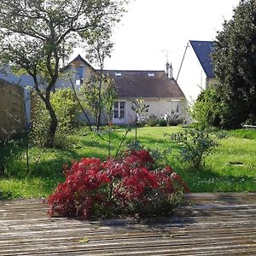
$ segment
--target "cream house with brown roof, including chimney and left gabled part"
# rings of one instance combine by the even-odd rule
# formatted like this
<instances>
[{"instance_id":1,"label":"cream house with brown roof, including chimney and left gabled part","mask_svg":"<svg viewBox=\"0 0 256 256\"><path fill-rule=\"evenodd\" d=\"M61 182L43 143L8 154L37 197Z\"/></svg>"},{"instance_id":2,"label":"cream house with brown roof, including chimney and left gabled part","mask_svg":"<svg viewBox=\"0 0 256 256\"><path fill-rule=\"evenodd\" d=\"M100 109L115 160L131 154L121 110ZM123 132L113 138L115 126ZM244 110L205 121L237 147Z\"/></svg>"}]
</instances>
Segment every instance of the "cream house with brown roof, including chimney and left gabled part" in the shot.
<instances>
[{"instance_id":1,"label":"cream house with brown roof, including chimney and left gabled part","mask_svg":"<svg viewBox=\"0 0 256 256\"><path fill-rule=\"evenodd\" d=\"M88 79L91 72L96 72L87 61L78 55L71 61L64 71L73 73L73 84L79 90L82 83ZM166 65L165 71L132 71L132 70L104 70L117 86L119 99L113 106L114 124L132 124L135 113L131 110L131 103L143 98L149 105L148 112L158 118L164 117L172 111L183 115L185 96L172 77L172 66ZM69 79L59 79L55 88L70 86ZM90 114L89 114L90 115Z\"/></svg>"}]
</instances>

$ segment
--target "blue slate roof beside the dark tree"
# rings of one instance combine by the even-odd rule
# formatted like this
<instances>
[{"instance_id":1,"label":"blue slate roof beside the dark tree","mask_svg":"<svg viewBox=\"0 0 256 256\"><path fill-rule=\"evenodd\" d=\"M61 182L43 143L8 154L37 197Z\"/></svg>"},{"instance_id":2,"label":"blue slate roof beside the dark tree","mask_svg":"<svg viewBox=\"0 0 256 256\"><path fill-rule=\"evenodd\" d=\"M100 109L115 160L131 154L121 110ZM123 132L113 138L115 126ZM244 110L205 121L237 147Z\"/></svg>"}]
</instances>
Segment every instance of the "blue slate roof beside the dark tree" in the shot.
<instances>
[{"instance_id":1,"label":"blue slate roof beside the dark tree","mask_svg":"<svg viewBox=\"0 0 256 256\"><path fill-rule=\"evenodd\" d=\"M207 78L214 78L211 53L214 48L213 41L192 41L190 40L195 55L201 63L201 67L207 74Z\"/></svg>"}]
</instances>

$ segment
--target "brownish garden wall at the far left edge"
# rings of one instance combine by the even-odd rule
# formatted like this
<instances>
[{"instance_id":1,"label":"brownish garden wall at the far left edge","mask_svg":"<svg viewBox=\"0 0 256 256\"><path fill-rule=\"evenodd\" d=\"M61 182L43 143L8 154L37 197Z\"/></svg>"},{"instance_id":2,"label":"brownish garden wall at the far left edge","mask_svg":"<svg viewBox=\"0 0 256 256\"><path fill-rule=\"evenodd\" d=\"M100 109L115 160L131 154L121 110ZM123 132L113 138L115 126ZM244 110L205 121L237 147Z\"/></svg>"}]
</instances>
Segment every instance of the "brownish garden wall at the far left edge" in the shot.
<instances>
[{"instance_id":1,"label":"brownish garden wall at the far left edge","mask_svg":"<svg viewBox=\"0 0 256 256\"><path fill-rule=\"evenodd\" d=\"M24 89L0 79L0 141L25 130Z\"/></svg>"}]
</instances>

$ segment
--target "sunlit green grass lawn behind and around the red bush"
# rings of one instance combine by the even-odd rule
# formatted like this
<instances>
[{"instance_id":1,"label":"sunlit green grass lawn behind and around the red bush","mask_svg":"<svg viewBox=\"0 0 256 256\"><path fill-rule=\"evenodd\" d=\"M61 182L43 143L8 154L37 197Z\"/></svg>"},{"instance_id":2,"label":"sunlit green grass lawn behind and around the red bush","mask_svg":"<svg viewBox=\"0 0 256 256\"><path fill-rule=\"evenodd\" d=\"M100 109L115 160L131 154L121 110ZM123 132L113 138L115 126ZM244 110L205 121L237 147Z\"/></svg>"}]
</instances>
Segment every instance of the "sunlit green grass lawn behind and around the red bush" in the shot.
<instances>
[{"instance_id":1,"label":"sunlit green grass lawn behind and around the red bush","mask_svg":"<svg viewBox=\"0 0 256 256\"><path fill-rule=\"evenodd\" d=\"M256 192L256 131L228 131L228 137L220 141L214 154L207 157L202 170L189 170L177 159L179 146L164 135L179 131L180 127L143 127L137 129L138 140L145 148L163 151L172 149L168 164L179 172L192 192L253 191ZM125 136L125 128L114 128L111 134L111 155L116 154ZM126 143L134 140L132 129ZM30 168L26 168L25 143L11 141L0 145L0 199L17 197L45 197L52 193L57 183L64 180L63 164L83 157L108 158L108 133L96 133L80 129L72 136L71 149L30 148Z\"/></svg>"}]
</instances>

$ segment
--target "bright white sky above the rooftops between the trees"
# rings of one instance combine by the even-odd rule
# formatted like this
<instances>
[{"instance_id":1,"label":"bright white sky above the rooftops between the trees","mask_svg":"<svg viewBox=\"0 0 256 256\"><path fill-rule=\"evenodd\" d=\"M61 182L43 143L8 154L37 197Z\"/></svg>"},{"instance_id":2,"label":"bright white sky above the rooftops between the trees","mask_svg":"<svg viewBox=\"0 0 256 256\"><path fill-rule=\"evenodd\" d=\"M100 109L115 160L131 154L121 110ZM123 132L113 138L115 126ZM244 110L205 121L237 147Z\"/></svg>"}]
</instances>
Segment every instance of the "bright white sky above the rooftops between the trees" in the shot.
<instances>
[{"instance_id":1,"label":"bright white sky above the rooftops between the trees","mask_svg":"<svg viewBox=\"0 0 256 256\"><path fill-rule=\"evenodd\" d=\"M165 70L174 76L189 40L212 41L239 0L131 0L113 31L106 69ZM80 53L82 56L83 53Z\"/></svg>"}]
</instances>

